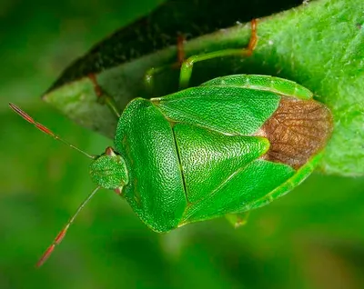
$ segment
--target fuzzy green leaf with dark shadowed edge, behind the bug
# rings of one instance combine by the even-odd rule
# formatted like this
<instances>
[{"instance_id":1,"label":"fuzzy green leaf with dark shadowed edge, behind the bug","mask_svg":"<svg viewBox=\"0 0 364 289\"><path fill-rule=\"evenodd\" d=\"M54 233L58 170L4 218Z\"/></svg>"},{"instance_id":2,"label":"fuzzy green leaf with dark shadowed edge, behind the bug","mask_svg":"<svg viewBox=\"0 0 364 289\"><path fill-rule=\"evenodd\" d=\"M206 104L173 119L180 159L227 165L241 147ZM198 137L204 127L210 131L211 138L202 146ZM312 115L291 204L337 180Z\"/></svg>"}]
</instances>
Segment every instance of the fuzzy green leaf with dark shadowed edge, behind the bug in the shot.
<instances>
[{"instance_id":1,"label":"fuzzy green leaf with dark shadowed edge, behind the bug","mask_svg":"<svg viewBox=\"0 0 364 289\"><path fill-rule=\"evenodd\" d=\"M160 28L158 35L158 29L143 30L143 21L139 21L97 45L66 69L44 96L45 101L55 105L78 124L113 137L116 118L106 106L96 103L93 85L85 75L96 73L99 84L115 97L120 109L136 96L150 96L143 84L147 70L172 64L177 59L176 45L160 48L170 43L158 43L163 38L163 27L168 25L166 17L161 15L173 15L171 12L180 11L181 7L177 8L172 4L162 5L146 18L150 26ZM188 6L188 10L191 11L191 6ZM321 171L325 174L363 175L363 11L362 0L320 0L261 18L258 21L258 46L251 57L226 57L197 64L192 85L218 75L244 73L278 75L308 87L320 102L329 105L334 115L335 129L320 164ZM182 12L175 16L178 19L181 15ZM172 21L173 17L170 18ZM189 32L191 25L187 23L182 21L178 29L173 24L170 26L176 29L177 35L178 32ZM186 25L186 30L183 25ZM147 32L150 34L143 34ZM170 35L171 32L168 33ZM184 48L188 56L244 47L248 44L249 36L249 24L234 25L189 39ZM130 43L130 39L135 42ZM153 43L154 39L157 45L152 45L152 48L157 49L156 52L153 49L143 50L136 45L133 54L130 45L140 40L145 46L148 42ZM124 45L124 48L117 50L117 44ZM111 60L107 62L107 59ZM156 75L153 95L176 91L177 76L177 70Z\"/></svg>"}]
</instances>

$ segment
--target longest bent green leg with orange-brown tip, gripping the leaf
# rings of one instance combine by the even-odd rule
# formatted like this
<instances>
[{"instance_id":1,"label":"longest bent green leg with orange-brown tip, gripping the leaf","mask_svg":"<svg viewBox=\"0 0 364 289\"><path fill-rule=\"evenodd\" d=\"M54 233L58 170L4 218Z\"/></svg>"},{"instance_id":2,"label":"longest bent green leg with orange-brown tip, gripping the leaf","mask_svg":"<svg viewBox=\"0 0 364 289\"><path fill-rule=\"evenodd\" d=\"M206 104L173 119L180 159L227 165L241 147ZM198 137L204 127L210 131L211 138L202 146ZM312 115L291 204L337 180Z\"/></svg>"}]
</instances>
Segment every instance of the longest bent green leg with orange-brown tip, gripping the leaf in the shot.
<instances>
[{"instance_id":1,"label":"longest bent green leg with orange-brown tip, gripping the leaf","mask_svg":"<svg viewBox=\"0 0 364 289\"><path fill-rule=\"evenodd\" d=\"M183 89L188 86L189 80L191 79L192 75L193 65L196 64L197 62L217 57L234 56L234 55L241 55L248 57L252 55L258 42L257 23L258 23L257 19L253 19L251 21L251 36L248 43L248 47L246 48L224 49L203 55L193 55L188 57L187 60L184 61L183 64L181 65L181 71L179 75L179 88Z\"/></svg>"}]
</instances>

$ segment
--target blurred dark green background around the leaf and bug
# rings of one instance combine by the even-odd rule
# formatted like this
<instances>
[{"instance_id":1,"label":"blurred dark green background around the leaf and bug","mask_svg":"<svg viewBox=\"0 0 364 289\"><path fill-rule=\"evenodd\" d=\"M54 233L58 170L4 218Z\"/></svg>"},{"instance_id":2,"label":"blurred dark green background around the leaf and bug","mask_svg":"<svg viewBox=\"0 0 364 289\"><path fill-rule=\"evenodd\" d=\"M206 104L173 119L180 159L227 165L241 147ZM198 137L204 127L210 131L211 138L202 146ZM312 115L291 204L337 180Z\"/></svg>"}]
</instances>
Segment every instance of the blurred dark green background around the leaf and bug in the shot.
<instances>
[{"instance_id":1,"label":"blurred dark green background around the leaf and bug","mask_svg":"<svg viewBox=\"0 0 364 289\"><path fill-rule=\"evenodd\" d=\"M7 103L101 153L111 140L39 96L78 55L158 3L0 3L0 288L363 288L364 178L319 174L238 230L221 219L155 234L116 194L100 191L35 269L94 185L88 159L33 129Z\"/></svg>"}]
</instances>

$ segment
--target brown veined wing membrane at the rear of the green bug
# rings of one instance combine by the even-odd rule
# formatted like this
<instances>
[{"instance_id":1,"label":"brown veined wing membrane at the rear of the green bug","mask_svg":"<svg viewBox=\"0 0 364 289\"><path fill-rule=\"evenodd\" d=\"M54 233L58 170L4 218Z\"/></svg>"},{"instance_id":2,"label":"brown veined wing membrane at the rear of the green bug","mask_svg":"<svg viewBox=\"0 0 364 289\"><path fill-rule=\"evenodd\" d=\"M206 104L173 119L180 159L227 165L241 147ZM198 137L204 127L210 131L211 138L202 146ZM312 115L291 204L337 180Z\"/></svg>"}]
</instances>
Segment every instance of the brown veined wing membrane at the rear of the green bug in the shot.
<instances>
[{"instance_id":1,"label":"brown veined wing membrane at the rear of the green bug","mask_svg":"<svg viewBox=\"0 0 364 289\"><path fill-rule=\"evenodd\" d=\"M264 159L298 169L327 143L332 131L329 108L314 100L282 97L277 111L257 135L270 142Z\"/></svg>"}]
</instances>

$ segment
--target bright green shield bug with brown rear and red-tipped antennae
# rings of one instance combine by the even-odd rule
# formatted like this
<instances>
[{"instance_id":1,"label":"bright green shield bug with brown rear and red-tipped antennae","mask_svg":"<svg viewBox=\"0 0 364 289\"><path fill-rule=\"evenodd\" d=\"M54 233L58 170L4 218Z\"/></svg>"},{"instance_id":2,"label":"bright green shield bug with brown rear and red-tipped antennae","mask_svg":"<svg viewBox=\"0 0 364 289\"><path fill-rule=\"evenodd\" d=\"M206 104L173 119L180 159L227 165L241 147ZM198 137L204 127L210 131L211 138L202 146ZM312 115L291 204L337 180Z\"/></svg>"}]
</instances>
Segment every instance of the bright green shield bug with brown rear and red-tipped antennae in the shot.
<instances>
[{"instance_id":1,"label":"bright green shield bug with brown rear and red-tipped antennae","mask_svg":"<svg viewBox=\"0 0 364 289\"><path fill-rule=\"evenodd\" d=\"M181 85L191 75L184 67ZM224 215L238 220L311 174L331 130L328 107L313 100L307 88L267 75L227 75L171 95L136 98L119 117L115 148L93 157L90 174L97 187L76 214L98 188L106 188L159 233ZM60 243L76 214L38 264Z\"/></svg>"}]
</instances>

